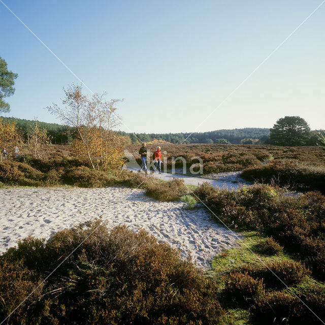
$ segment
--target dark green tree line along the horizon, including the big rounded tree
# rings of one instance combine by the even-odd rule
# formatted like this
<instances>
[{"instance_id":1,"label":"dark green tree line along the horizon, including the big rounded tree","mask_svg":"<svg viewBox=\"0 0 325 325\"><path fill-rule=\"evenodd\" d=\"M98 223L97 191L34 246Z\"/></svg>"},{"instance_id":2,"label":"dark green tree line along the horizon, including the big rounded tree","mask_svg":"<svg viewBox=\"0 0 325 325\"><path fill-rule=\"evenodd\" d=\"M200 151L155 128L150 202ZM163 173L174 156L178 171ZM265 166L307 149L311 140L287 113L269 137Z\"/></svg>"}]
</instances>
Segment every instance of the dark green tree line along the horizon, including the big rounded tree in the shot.
<instances>
[{"instance_id":1,"label":"dark green tree line along the horizon, including the big rounded tree","mask_svg":"<svg viewBox=\"0 0 325 325\"><path fill-rule=\"evenodd\" d=\"M35 125L34 120L14 117L1 117L5 122L15 121L21 137L28 141L30 127ZM70 144L75 135L75 129L68 125L38 122L41 128L46 129L47 135L53 144ZM271 131L271 136L270 136ZM141 141L150 142L163 140L175 144L180 143L210 143L210 144L277 144L277 145L316 145L317 131L309 131L308 124L299 117L285 117L279 119L273 128L246 127L235 129L221 129L203 133L125 133L118 134L131 138L132 143Z\"/></svg>"}]
</instances>

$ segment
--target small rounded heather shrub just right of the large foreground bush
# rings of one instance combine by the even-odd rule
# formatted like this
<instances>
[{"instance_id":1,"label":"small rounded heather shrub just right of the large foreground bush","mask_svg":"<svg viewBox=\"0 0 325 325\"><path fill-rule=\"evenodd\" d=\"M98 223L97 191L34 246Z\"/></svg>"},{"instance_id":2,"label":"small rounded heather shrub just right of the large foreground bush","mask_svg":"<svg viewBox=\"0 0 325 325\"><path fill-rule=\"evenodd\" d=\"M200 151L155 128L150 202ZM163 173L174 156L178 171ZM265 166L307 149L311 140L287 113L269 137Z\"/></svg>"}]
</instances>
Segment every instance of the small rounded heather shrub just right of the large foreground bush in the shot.
<instances>
[{"instance_id":1,"label":"small rounded heather shrub just right of the large foreground bush","mask_svg":"<svg viewBox=\"0 0 325 325\"><path fill-rule=\"evenodd\" d=\"M265 296L262 280L252 278L247 272L233 272L224 277L225 294L239 303L252 304Z\"/></svg>"}]
</instances>

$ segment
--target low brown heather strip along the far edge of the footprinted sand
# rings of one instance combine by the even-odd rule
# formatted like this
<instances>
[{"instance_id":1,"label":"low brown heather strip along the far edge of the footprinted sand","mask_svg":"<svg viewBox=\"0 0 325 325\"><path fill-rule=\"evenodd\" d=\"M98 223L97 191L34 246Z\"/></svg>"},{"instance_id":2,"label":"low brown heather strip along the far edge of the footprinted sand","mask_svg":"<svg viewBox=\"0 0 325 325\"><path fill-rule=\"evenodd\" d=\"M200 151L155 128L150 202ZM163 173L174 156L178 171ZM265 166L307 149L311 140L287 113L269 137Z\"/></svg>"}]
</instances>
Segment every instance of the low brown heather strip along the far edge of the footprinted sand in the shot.
<instances>
[{"instance_id":1,"label":"low brown heather strip along the far edge of the footprinted sand","mask_svg":"<svg viewBox=\"0 0 325 325\"><path fill-rule=\"evenodd\" d=\"M147 195L160 201L176 201L190 191L180 179L164 182L143 173L110 169L98 171L85 166L78 159L41 160L21 157L20 162L7 160L0 163L2 186L62 186L105 187L127 185L146 189Z\"/></svg>"}]
</instances>

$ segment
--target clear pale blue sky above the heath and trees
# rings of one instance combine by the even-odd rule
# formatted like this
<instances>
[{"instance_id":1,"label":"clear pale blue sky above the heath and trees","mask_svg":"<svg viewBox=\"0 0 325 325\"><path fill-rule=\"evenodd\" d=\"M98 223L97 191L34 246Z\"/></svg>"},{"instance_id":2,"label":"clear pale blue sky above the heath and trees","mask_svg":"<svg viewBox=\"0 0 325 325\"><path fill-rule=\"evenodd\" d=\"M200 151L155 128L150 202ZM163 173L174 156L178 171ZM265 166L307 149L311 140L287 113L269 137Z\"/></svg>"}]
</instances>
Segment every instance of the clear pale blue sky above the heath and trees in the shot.
<instances>
[{"instance_id":1,"label":"clear pale blue sky above the heath and trees","mask_svg":"<svg viewBox=\"0 0 325 325\"><path fill-rule=\"evenodd\" d=\"M137 133L197 129L322 2L1 1L92 91L123 98L120 129ZM0 30L0 56L19 75L6 116L59 122L44 108L78 79L1 2ZM197 131L286 115L325 128L324 58L325 4Z\"/></svg>"}]
</instances>

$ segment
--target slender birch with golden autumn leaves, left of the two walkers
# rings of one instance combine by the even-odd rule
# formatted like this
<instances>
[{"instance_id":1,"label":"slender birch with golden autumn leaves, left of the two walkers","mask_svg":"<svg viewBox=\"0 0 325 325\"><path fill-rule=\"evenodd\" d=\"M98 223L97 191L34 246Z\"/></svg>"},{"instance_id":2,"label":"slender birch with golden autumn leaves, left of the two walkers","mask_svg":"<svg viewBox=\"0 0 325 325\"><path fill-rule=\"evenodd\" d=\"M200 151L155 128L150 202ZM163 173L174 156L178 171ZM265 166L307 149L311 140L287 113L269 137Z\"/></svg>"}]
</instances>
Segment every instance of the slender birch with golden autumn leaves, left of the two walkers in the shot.
<instances>
[{"instance_id":1,"label":"slender birch with golden autumn leaves, left of the two walkers","mask_svg":"<svg viewBox=\"0 0 325 325\"><path fill-rule=\"evenodd\" d=\"M64 89L63 108L53 104L47 107L51 114L76 129L73 152L80 158L87 158L93 169L105 169L120 161L124 137L112 131L119 124L115 114L118 100L104 101L104 95L95 94L88 100L82 94L81 86L72 85Z\"/></svg>"}]
</instances>

